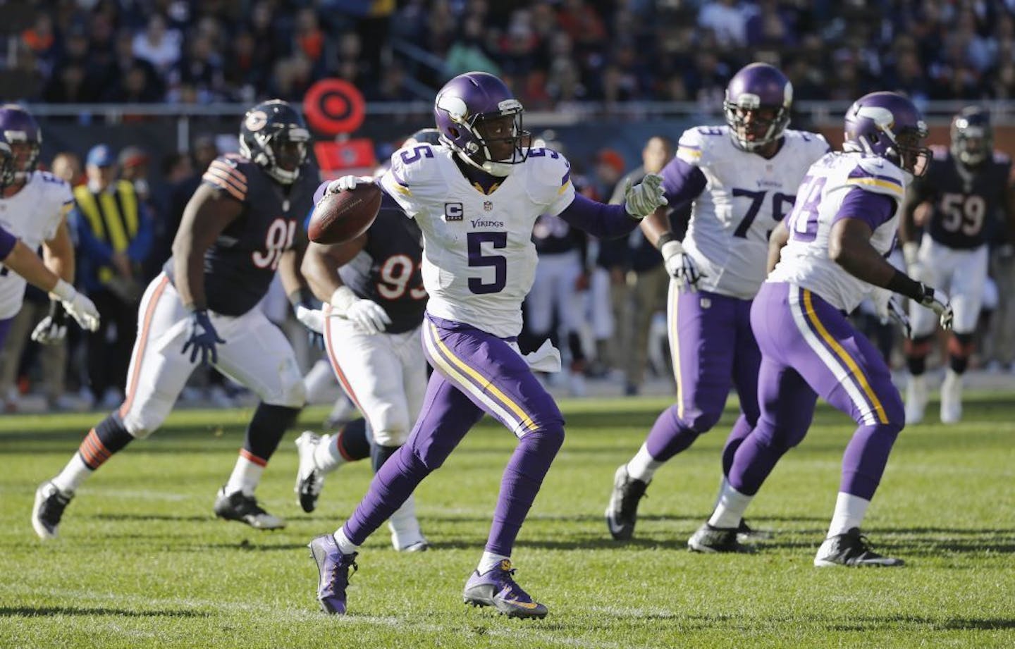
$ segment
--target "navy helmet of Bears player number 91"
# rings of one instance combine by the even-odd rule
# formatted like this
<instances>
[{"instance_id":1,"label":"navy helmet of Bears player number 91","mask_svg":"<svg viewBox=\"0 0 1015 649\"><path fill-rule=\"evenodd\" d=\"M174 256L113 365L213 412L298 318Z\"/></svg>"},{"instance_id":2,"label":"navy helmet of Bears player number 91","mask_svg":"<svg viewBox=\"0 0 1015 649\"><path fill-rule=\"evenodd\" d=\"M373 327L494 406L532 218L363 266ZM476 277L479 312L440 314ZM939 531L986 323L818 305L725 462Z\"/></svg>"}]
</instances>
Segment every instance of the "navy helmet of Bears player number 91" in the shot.
<instances>
[{"instance_id":1,"label":"navy helmet of Bears player number 91","mask_svg":"<svg viewBox=\"0 0 1015 649\"><path fill-rule=\"evenodd\" d=\"M240 153L282 185L299 177L311 132L288 101L262 101L247 112L240 127Z\"/></svg>"}]
</instances>

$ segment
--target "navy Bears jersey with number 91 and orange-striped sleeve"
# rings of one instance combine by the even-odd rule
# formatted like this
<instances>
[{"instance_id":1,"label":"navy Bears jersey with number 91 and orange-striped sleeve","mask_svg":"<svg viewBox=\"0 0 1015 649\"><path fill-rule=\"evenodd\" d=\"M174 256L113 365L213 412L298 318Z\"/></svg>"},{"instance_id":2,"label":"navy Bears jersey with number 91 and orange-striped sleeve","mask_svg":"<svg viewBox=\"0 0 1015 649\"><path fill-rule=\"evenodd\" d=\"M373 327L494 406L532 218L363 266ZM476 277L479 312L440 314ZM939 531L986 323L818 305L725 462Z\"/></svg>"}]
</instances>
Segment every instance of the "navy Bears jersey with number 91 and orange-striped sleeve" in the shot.
<instances>
[{"instance_id":1,"label":"navy Bears jersey with number 91 and orange-striped sleeve","mask_svg":"<svg viewBox=\"0 0 1015 649\"><path fill-rule=\"evenodd\" d=\"M318 173L304 166L285 191L257 164L228 154L213 160L201 181L244 204L240 217L204 255L208 308L243 315L267 293L282 253L292 247L296 228L314 207ZM163 269L175 281L173 258Z\"/></svg>"}]
</instances>

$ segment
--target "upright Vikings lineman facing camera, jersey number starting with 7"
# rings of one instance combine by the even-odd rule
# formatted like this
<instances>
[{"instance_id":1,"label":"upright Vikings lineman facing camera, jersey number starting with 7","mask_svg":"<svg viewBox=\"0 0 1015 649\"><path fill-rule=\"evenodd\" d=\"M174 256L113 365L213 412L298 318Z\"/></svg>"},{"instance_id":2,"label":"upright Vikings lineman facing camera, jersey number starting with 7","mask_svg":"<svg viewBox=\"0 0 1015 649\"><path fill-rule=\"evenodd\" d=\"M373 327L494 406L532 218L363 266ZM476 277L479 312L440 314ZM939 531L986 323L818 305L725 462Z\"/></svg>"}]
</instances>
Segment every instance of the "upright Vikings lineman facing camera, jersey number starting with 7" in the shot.
<instances>
[{"instance_id":1,"label":"upright Vikings lineman facing camera, jersey number starting with 7","mask_svg":"<svg viewBox=\"0 0 1015 649\"><path fill-rule=\"evenodd\" d=\"M677 403L614 475L606 523L616 539L631 537L656 471L719 421L731 385L740 417L723 451L724 477L757 423L761 354L751 300L764 279L769 233L811 163L829 150L820 135L787 129L792 102L793 86L776 68L752 63L737 72L726 89L726 126L685 131L663 169L670 208L677 218L689 210L687 234L679 240L663 211L641 222L672 278L667 319Z\"/></svg>"}]
</instances>

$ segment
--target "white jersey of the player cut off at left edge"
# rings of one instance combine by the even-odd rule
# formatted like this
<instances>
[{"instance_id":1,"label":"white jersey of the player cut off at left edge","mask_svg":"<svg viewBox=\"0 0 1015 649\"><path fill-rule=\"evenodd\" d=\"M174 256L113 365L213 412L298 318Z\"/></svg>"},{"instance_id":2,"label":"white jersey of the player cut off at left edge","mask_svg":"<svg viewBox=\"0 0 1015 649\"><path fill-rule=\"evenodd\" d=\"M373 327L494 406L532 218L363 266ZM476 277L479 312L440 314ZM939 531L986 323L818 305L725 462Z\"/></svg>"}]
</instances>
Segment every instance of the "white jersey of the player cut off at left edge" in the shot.
<instances>
[{"instance_id":1,"label":"white jersey of the player cut off at left edge","mask_svg":"<svg viewBox=\"0 0 1015 649\"><path fill-rule=\"evenodd\" d=\"M49 171L33 171L21 191L0 198L0 225L32 250L56 236L74 205L70 185ZM21 310L24 279L6 268L0 271L0 318Z\"/></svg>"}]
</instances>

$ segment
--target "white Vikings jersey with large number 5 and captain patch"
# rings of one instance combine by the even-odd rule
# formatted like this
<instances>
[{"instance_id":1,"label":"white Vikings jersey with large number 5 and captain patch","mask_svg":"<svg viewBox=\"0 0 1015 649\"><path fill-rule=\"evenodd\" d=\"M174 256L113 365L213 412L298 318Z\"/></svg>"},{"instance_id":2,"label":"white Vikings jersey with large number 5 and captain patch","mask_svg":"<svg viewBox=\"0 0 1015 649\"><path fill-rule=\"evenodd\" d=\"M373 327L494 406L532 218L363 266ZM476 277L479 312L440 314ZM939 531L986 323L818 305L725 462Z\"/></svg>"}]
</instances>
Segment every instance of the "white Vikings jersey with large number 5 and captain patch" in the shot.
<instances>
[{"instance_id":1,"label":"white Vikings jersey with large number 5 and captain patch","mask_svg":"<svg viewBox=\"0 0 1015 649\"><path fill-rule=\"evenodd\" d=\"M556 216L574 200L570 165L533 148L485 194L459 170L445 146L396 151L381 186L423 232L426 310L500 338L522 331L522 300L532 288L540 214Z\"/></svg>"}]
</instances>

